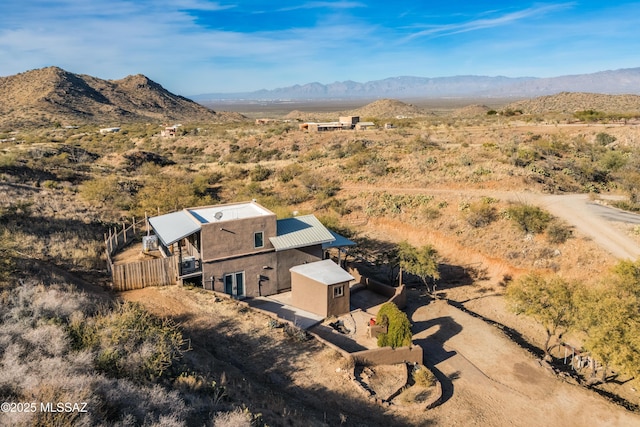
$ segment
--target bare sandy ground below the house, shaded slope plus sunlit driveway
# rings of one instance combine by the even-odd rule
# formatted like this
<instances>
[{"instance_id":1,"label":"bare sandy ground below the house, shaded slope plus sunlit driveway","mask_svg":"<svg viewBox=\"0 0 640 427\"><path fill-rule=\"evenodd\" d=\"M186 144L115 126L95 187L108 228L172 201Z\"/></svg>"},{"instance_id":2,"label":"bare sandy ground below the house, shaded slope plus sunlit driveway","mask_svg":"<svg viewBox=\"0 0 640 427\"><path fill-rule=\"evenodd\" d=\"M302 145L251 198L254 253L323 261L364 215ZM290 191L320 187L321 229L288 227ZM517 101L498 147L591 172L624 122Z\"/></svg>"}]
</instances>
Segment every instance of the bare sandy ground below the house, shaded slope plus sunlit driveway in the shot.
<instances>
[{"instance_id":1,"label":"bare sandy ground below the house, shaded slope plus sunlit driveway","mask_svg":"<svg viewBox=\"0 0 640 427\"><path fill-rule=\"evenodd\" d=\"M495 327L417 290L408 307L414 341L444 390L444 402L430 411L372 405L335 351L315 340L296 343L234 301L178 286L121 295L178 321L191 339L187 357L226 372L229 389L237 388L232 397L247 399L269 425L640 425L640 415L564 382Z\"/></svg>"}]
</instances>

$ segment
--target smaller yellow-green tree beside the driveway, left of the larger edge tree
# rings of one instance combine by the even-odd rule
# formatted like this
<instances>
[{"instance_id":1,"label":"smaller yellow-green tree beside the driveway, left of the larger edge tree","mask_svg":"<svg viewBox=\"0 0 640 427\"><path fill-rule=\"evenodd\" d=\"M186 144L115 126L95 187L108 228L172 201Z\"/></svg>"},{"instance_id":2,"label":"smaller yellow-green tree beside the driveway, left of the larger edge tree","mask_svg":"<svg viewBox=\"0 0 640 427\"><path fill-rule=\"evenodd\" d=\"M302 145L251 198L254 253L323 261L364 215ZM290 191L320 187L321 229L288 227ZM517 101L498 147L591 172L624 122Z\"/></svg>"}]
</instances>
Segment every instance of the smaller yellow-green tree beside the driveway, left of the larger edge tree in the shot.
<instances>
[{"instance_id":1,"label":"smaller yellow-green tree beside the driveway, left of the larger edge tree","mask_svg":"<svg viewBox=\"0 0 640 427\"><path fill-rule=\"evenodd\" d=\"M573 303L576 284L560 277L545 279L539 274L529 274L507 287L506 297L511 309L526 314L542 324L546 332L545 359L551 357L551 339L567 331L574 323Z\"/></svg>"}]
</instances>

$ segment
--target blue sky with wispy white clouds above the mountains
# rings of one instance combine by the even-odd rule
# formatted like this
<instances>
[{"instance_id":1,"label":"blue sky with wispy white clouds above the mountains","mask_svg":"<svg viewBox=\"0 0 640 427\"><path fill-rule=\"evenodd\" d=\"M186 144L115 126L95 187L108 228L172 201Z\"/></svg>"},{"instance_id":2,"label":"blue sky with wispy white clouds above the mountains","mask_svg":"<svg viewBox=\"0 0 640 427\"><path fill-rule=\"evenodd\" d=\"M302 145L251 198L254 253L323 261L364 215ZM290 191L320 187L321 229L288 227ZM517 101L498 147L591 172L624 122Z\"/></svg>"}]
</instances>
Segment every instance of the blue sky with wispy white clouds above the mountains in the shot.
<instances>
[{"instance_id":1,"label":"blue sky with wispy white clouds above the mountains","mask_svg":"<svg viewBox=\"0 0 640 427\"><path fill-rule=\"evenodd\" d=\"M640 67L640 2L1 0L0 76L145 74L185 96Z\"/></svg>"}]
</instances>

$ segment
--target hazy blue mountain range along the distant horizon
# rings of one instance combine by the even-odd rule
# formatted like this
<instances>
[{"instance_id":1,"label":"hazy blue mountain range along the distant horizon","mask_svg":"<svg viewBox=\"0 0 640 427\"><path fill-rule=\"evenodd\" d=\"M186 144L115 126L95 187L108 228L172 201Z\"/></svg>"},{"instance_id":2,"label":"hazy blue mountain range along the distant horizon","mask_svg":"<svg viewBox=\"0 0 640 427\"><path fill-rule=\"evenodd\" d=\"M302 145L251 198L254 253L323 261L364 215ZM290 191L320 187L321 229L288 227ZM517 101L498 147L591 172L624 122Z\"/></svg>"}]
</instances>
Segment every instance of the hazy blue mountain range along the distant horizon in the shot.
<instances>
[{"instance_id":1,"label":"hazy blue mountain range along the distant horizon","mask_svg":"<svg viewBox=\"0 0 640 427\"><path fill-rule=\"evenodd\" d=\"M215 100L328 100L417 98L530 98L559 92L640 94L640 67L592 74L536 77L392 77L366 83L307 83L273 90L209 93L191 98L207 104Z\"/></svg>"}]
</instances>

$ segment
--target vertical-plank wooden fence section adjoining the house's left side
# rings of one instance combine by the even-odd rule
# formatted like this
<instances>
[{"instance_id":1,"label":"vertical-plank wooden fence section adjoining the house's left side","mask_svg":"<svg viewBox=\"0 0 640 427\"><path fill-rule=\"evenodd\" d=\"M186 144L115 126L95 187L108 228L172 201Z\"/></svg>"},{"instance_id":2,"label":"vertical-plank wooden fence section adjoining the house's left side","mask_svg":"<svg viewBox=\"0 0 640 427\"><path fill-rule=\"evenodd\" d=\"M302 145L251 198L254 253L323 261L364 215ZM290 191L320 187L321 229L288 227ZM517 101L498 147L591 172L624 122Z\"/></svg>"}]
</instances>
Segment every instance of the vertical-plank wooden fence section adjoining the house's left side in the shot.
<instances>
[{"instance_id":1,"label":"vertical-plank wooden fence section adjoining the house's left side","mask_svg":"<svg viewBox=\"0 0 640 427\"><path fill-rule=\"evenodd\" d=\"M156 258L111 266L113 289L130 291L147 286L167 286L176 283L178 257Z\"/></svg>"}]
</instances>

